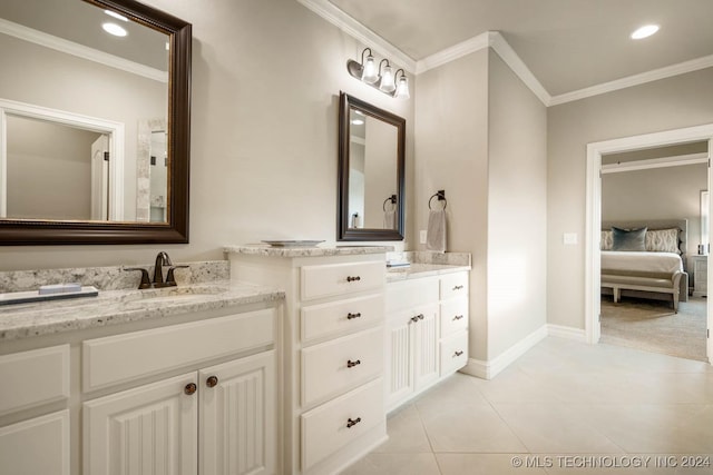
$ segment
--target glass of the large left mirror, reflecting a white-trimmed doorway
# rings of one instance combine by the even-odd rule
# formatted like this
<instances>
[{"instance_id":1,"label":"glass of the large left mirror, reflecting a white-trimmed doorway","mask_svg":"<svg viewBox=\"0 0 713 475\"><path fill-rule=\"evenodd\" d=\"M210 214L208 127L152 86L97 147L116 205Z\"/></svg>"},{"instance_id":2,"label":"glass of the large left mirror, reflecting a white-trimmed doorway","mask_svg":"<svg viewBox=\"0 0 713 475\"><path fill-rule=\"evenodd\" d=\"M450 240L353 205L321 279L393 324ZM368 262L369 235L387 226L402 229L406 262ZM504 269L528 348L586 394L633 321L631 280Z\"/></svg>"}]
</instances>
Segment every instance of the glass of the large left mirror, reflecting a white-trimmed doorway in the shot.
<instances>
[{"instance_id":1,"label":"glass of the large left mirror, reflecting a white-trimmed doorway","mask_svg":"<svg viewBox=\"0 0 713 475\"><path fill-rule=\"evenodd\" d=\"M168 221L169 36L119 17L0 2L0 218Z\"/></svg>"}]
</instances>

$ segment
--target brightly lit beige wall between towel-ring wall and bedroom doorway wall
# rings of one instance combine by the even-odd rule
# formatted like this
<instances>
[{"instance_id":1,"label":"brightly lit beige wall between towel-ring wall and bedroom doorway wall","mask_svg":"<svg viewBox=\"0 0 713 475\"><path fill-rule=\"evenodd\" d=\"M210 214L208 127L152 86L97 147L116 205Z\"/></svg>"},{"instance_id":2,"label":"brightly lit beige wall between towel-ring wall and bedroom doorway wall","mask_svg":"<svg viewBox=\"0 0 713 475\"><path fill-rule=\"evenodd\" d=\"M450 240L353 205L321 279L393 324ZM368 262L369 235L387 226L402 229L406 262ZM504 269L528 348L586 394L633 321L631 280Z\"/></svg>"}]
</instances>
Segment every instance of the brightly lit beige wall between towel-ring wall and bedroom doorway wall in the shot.
<instances>
[{"instance_id":1,"label":"brightly lit beige wall between towel-ring wall and bedroom doorway wall","mask_svg":"<svg viewBox=\"0 0 713 475\"><path fill-rule=\"evenodd\" d=\"M547 110L489 58L488 360L547 323Z\"/></svg>"}]
</instances>

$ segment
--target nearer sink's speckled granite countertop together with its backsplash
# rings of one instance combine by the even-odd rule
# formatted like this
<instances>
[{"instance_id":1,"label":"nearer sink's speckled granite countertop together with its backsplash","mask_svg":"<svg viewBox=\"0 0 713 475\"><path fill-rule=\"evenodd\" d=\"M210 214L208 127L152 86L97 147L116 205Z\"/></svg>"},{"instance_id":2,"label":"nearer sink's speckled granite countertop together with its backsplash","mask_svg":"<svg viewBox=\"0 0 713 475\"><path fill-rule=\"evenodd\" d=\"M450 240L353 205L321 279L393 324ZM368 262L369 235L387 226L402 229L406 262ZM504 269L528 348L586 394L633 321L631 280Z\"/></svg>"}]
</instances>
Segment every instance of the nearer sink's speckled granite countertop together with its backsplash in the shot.
<instances>
[{"instance_id":1,"label":"nearer sink's speckled granite countertop together with its backsplash","mask_svg":"<svg viewBox=\"0 0 713 475\"><path fill-rule=\"evenodd\" d=\"M209 273L213 277L202 275L203 265L192 264L192 268L178 277L177 287L162 289L138 290L138 273L124 273L120 268L58 269L42 270L39 274L43 283L62 281L67 276L74 276L75 281L95 285L100 288L97 297L82 297L67 300L51 300L35 304L8 305L0 307L0 343L62 331L81 330L105 327L148 318L166 318L174 315L214 310L240 305L268 303L284 298L284 291L265 286L246 283L232 283L226 278L227 263L213 266ZM106 271L105 271L106 270ZM14 279L2 273L0 281L4 281L11 291L37 288L32 277L33 271L21 271ZM18 273L13 273L18 274ZM35 273L37 274L37 273ZM129 277L130 288L113 288L118 284L107 277L115 275ZM85 279L78 276L90 276ZM193 275L204 281L191 281ZM25 279L26 285L19 285L18 279ZM59 279L59 280L58 280ZM107 280L108 279L108 280ZM186 281L188 280L188 281ZM64 280L67 281L67 280ZM102 289L98 283L107 283L109 290ZM111 284L110 284L111 283ZM7 288L7 287L6 287ZM8 290L6 290L8 291Z\"/></svg>"}]
</instances>

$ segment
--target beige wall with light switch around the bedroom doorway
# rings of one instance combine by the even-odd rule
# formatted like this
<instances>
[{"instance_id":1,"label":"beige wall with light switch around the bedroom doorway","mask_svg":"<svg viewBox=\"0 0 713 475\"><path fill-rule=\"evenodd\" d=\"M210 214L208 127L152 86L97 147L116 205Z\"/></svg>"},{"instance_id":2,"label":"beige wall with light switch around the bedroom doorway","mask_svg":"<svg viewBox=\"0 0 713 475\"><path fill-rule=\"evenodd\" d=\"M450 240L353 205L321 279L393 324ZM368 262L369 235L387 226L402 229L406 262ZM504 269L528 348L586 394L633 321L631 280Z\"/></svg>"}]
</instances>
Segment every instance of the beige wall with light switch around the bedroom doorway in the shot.
<instances>
[{"instance_id":1,"label":"beige wall with light switch around the bedroom doorway","mask_svg":"<svg viewBox=\"0 0 713 475\"><path fill-rule=\"evenodd\" d=\"M584 328L586 145L713 122L713 68L547 111L548 323ZM563 245L576 232L576 246Z\"/></svg>"}]
</instances>

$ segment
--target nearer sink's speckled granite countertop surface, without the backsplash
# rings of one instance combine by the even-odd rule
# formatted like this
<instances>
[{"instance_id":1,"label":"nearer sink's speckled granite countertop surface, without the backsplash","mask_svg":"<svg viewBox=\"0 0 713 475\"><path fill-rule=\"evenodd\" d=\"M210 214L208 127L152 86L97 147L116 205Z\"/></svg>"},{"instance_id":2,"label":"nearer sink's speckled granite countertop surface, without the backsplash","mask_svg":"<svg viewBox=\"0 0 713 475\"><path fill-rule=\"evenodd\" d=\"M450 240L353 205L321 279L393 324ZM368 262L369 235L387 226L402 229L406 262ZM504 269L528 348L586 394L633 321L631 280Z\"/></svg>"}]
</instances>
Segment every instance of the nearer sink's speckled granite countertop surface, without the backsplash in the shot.
<instances>
[{"instance_id":1,"label":"nearer sink's speckled granite countertop surface, without the backsplash","mask_svg":"<svg viewBox=\"0 0 713 475\"><path fill-rule=\"evenodd\" d=\"M0 342L274 301L284 297L284 291L276 288L229 280L162 289L99 290L97 297L1 306Z\"/></svg>"}]
</instances>

